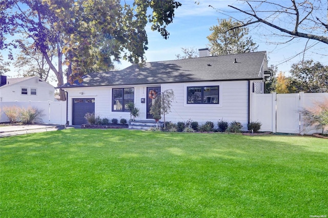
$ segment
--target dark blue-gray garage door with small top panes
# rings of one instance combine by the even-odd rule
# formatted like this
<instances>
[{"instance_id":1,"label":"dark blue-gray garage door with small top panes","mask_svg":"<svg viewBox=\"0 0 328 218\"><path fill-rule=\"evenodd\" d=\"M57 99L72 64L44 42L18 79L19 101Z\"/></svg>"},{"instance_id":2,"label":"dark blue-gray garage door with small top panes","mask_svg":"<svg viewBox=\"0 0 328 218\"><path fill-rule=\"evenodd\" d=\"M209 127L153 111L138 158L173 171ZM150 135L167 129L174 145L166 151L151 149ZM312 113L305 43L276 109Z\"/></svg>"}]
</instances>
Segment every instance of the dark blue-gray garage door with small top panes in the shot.
<instances>
[{"instance_id":1,"label":"dark blue-gray garage door with small top panes","mask_svg":"<svg viewBox=\"0 0 328 218\"><path fill-rule=\"evenodd\" d=\"M87 113L94 113L94 98L73 98L73 125L86 124Z\"/></svg>"}]
</instances>

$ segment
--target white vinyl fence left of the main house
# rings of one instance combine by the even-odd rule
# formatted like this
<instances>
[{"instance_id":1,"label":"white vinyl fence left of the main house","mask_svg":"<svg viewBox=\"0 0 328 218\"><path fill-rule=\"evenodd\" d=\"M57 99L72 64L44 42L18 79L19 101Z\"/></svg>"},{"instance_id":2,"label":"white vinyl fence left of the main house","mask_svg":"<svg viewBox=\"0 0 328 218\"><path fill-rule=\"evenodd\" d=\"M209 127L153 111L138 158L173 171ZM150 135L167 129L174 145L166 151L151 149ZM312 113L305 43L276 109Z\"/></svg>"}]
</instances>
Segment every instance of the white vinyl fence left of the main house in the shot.
<instances>
[{"instance_id":1,"label":"white vinyl fence left of the main house","mask_svg":"<svg viewBox=\"0 0 328 218\"><path fill-rule=\"evenodd\" d=\"M21 108L28 108L29 106L31 106L42 111L42 117L40 117L42 123L59 125L66 124L66 101L3 101L0 102L0 122L9 121L8 117L4 114L3 107L10 107L13 105L16 105L17 107Z\"/></svg>"}]
</instances>

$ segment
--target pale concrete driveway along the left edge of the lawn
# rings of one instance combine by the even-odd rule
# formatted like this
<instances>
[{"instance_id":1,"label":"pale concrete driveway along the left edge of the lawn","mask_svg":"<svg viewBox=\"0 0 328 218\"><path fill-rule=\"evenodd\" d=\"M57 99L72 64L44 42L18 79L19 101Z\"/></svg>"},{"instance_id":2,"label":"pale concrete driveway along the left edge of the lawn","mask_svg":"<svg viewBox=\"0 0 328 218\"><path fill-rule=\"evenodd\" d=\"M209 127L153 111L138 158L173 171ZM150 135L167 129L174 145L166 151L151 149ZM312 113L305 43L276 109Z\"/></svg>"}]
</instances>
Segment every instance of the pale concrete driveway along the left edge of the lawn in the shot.
<instances>
[{"instance_id":1,"label":"pale concrete driveway along the left edge of the lawn","mask_svg":"<svg viewBox=\"0 0 328 218\"><path fill-rule=\"evenodd\" d=\"M4 125L0 126L0 138L6 136L25 135L64 129L65 125L34 124L34 125Z\"/></svg>"}]
</instances>

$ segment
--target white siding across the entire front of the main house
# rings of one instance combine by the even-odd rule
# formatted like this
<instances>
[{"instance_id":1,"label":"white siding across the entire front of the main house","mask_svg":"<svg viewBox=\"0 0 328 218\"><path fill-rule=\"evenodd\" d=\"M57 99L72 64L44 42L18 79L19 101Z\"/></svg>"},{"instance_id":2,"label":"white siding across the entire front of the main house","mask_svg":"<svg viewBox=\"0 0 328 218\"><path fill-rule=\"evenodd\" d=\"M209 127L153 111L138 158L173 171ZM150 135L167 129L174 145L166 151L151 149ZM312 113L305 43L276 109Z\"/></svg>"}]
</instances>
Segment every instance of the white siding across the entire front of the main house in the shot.
<instances>
[{"instance_id":1,"label":"white siding across the entire front of the main house","mask_svg":"<svg viewBox=\"0 0 328 218\"><path fill-rule=\"evenodd\" d=\"M187 104L187 86L219 85L219 104ZM147 102L148 86L161 86L161 91L172 89L175 100L172 102L171 112L166 115L166 121L177 123L192 119L202 124L212 121L214 124L220 119L231 122L239 121L244 127L248 123L248 81L221 81L221 82L192 82L168 83L135 86L104 86L87 88L70 88L68 98L68 120L72 122L72 99L95 98L95 114L101 118L130 119L129 112L112 112L112 89L134 88L135 106L140 110L137 120L146 120L147 104L141 103L141 98ZM83 94L81 94L83 92ZM163 117L161 119L163 121Z\"/></svg>"}]
</instances>

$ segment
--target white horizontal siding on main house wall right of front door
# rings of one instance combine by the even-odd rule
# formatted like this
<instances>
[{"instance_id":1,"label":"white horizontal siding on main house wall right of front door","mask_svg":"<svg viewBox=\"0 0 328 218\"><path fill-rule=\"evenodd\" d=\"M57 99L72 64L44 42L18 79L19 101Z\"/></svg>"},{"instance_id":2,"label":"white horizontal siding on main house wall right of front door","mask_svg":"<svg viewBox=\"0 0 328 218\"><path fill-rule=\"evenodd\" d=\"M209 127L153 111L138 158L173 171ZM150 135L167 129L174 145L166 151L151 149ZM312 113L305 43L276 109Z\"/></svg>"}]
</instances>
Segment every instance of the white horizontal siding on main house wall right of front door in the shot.
<instances>
[{"instance_id":1,"label":"white horizontal siding on main house wall right of front door","mask_svg":"<svg viewBox=\"0 0 328 218\"><path fill-rule=\"evenodd\" d=\"M187 104L187 86L219 85L219 105ZM245 127L248 123L248 81L222 81L163 84L161 90L172 89L175 101L166 121L174 123L192 119L202 124L220 119L231 122L239 121Z\"/></svg>"}]
</instances>

